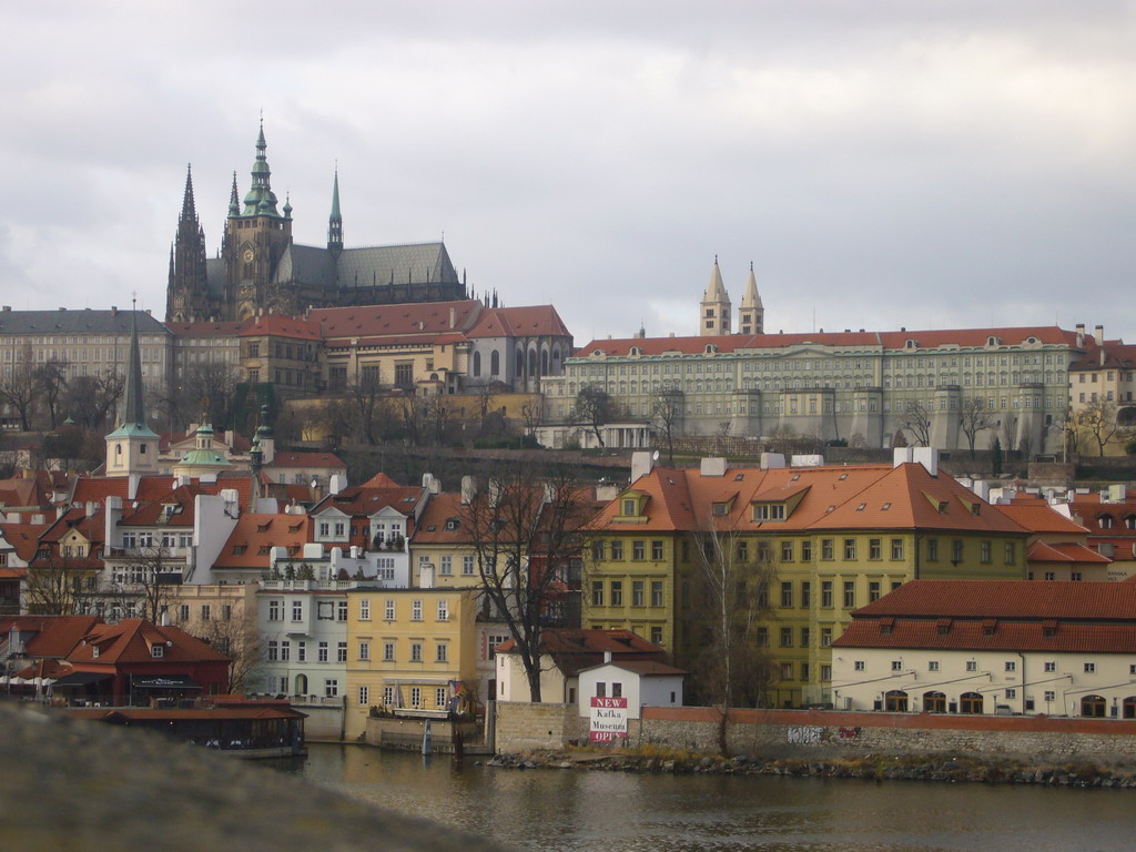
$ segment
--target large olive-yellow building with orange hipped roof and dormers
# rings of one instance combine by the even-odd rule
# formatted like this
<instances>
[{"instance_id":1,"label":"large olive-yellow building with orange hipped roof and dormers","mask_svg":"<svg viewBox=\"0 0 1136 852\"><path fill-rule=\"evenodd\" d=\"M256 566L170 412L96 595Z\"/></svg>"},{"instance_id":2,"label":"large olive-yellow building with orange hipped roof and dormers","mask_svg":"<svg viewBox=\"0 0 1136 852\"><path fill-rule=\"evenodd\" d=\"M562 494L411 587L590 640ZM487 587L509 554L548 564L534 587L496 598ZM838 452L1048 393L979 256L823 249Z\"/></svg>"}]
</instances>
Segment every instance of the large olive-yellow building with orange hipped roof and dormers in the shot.
<instances>
[{"instance_id":1,"label":"large olive-yellow building with orange hipped roof and dormers","mask_svg":"<svg viewBox=\"0 0 1136 852\"><path fill-rule=\"evenodd\" d=\"M945 475L895 466L654 469L599 516L583 626L698 671L712 607L752 616L777 707L828 700L851 612L908 579L1025 579L1027 531ZM726 587L715 596L716 584ZM709 592L709 594L708 594Z\"/></svg>"}]
</instances>

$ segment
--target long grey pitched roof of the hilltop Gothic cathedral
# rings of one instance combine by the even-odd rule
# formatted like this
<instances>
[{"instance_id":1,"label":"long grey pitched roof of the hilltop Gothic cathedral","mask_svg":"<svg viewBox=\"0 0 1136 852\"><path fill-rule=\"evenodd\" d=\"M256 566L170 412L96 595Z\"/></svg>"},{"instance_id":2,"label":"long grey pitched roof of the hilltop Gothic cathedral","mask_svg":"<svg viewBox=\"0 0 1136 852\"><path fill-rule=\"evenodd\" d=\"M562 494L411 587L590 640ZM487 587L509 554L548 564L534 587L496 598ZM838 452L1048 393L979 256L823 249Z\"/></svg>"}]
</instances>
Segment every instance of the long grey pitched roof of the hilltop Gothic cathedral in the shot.
<instances>
[{"instance_id":1,"label":"long grey pitched roof of the hilltop Gothic cathedral","mask_svg":"<svg viewBox=\"0 0 1136 852\"><path fill-rule=\"evenodd\" d=\"M344 249L335 257L327 249L292 244L276 267L278 283L356 287L395 284L459 284L458 272L444 243L371 245Z\"/></svg>"}]
</instances>

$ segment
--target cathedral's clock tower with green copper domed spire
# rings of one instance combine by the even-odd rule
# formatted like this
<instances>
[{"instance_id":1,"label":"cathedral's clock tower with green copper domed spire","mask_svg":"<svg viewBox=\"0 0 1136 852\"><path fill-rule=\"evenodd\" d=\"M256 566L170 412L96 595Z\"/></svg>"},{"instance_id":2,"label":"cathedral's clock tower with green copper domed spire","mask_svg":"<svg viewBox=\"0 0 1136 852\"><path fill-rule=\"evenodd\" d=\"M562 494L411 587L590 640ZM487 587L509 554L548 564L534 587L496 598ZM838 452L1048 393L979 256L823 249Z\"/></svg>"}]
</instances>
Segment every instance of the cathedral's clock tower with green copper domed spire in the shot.
<instances>
[{"instance_id":1,"label":"cathedral's clock tower with green copper domed spire","mask_svg":"<svg viewBox=\"0 0 1136 852\"><path fill-rule=\"evenodd\" d=\"M284 202L284 211L276 209L265 154L265 126L261 120L257 137L257 159L252 164L252 185L241 207L233 175L228 217L222 258L225 261L224 312L226 319L245 319L257 312L258 306L270 304L276 299L270 293L276 267L292 244L292 206Z\"/></svg>"}]
</instances>

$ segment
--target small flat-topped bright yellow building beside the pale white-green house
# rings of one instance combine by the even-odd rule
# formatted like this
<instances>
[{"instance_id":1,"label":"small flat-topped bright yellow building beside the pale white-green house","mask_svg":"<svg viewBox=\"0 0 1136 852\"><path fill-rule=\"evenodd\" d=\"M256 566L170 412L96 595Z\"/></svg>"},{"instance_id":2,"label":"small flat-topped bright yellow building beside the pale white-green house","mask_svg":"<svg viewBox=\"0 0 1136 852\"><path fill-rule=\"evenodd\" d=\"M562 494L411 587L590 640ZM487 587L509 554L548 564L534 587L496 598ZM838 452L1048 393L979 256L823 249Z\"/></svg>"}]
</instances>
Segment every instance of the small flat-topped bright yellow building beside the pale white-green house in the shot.
<instances>
[{"instance_id":1,"label":"small flat-topped bright yellow building beside the pale white-green house","mask_svg":"<svg viewBox=\"0 0 1136 852\"><path fill-rule=\"evenodd\" d=\"M373 707L445 711L476 688L475 609L473 590L348 592L349 738L366 730Z\"/></svg>"}]
</instances>

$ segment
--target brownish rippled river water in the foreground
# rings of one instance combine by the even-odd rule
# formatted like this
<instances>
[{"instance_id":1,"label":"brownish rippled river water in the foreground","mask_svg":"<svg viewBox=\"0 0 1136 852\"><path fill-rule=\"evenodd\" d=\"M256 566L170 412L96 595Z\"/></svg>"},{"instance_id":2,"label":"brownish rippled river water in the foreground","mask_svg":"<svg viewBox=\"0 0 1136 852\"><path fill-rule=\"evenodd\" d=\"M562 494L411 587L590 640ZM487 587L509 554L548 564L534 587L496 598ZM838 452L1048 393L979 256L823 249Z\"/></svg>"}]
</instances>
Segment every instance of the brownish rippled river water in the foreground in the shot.
<instances>
[{"instance_id":1,"label":"brownish rippled river water in the foreground","mask_svg":"<svg viewBox=\"0 0 1136 852\"><path fill-rule=\"evenodd\" d=\"M557 852L1136 849L1136 791L495 769L309 744L293 771L354 799Z\"/></svg>"}]
</instances>

